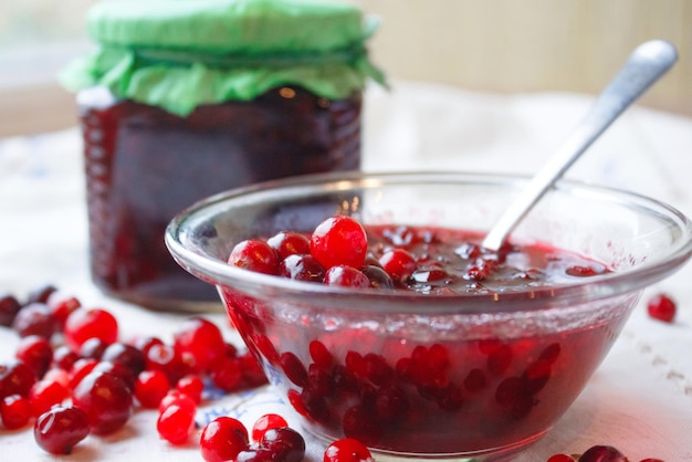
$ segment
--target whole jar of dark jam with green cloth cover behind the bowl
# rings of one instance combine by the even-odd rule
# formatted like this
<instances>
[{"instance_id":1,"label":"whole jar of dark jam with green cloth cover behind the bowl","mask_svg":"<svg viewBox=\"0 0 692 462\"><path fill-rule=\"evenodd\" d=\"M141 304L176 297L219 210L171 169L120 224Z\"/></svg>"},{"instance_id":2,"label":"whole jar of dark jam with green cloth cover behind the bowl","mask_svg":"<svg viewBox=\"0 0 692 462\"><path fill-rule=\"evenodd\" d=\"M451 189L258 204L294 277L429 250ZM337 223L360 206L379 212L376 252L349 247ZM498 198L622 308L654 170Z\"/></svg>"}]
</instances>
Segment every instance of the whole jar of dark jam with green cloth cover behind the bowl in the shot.
<instances>
[{"instance_id":1,"label":"whole jar of dark jam with green cloth cover behind the bowl","mask_svg":"<svg viewBox=\"0 0 692 462\"><path fill-rule=\"evenodd\" d=\"M218 306L164 243L197 200L280 177L354 170L367 80L384 83L353 6L287 0L104 1L77 92L91 273L161 311Z\"/></svg>"}]
</instances>

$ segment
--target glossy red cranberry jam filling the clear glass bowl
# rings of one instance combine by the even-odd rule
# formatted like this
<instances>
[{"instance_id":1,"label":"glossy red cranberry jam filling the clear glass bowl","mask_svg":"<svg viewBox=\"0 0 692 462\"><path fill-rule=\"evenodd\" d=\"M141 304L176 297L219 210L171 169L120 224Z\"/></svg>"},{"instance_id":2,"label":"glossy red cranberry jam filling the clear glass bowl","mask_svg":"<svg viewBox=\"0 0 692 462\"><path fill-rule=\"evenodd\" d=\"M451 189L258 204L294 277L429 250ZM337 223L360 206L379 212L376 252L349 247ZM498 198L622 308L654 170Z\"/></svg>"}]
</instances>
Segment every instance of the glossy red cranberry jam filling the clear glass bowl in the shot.
<instances>
[{"instance_id":1,"label":"glossy red cranberry jam filling the clear glass bowl","mask_svg":"<svg viewBox=\"0 0 692 462\"><path fill-rule=\"evenodd\" d=\"M483 255L474 232L366 230L368 260L394 245L418 262L407 284L388 290L431 297L554 287L609 271L546 244ZM479 277L485 258L499 260ZM433 281L421 276L433 270L440 275ZM591 314L570 319L501 312L496 318L426 316L421 308L418 321L378 313L364 319L348 307L321 311L307 297L303 306L273 306L229 287L221 296L270 380L312 431L384 451L441 455L508 450L542 437L583 390L638 295L580 306ZM549 298L537 303L549 312Z\"/></svg>"}]
</instances>

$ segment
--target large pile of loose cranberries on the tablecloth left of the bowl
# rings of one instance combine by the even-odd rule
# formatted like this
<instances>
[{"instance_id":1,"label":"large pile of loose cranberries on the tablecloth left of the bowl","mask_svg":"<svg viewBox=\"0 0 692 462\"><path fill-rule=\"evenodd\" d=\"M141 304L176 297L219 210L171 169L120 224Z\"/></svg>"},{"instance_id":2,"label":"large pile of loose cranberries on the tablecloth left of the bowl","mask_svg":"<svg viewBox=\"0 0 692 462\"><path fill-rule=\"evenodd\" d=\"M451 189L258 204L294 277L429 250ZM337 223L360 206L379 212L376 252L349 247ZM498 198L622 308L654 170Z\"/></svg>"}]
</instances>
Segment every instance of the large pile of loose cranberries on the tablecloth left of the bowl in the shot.
<instances>
[{"instance_id":1,"label":"large pile of loose cranberries on the tablecloth left of the bowl","mask_svg":"<svg viewBox=\"0 0 692 462\"><path fill-rule=\"evenodd\" d=\"M0 365L2 426L33 420L35 440L50 453L70 453L90 433L114 433L137 409L158 409L161 439L182 444L205 382L231 392L266 381L254 357L202 317L187 318L170 344L125 343L109 312L46 286L24 303L0 295L0 324L21 337L15 360Z\"/></svg>"}]
</instances>

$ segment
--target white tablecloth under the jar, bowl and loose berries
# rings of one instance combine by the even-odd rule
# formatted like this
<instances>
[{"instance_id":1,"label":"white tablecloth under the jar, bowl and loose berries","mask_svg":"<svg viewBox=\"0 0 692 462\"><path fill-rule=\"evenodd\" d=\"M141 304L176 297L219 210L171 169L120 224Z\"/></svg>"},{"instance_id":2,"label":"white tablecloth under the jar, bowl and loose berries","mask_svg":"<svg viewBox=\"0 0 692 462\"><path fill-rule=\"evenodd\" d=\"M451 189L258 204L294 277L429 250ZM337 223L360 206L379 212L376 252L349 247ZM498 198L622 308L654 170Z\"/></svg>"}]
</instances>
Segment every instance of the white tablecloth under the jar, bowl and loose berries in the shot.
<instances>
[{"instance_id":1,"label":"white tablecloth under the jar, bowl and loose berries","mask_svg":"<svg viewBox=\"0 0 692 462\"><path fill-rule=\"evenodd\" d=\"M396 82L370 88L364 114L367 170L460 169L531 174L586 113L590 96L493 95ZM631 108L567 177L620 187L692 214L692 119ZM123 339L156 334L169 339L182 316L144 311L102 295L88 276L86 212L77 128L0 141L0 292L19 297L44 283L103 306L120 323ZM518 461L611 444L632 461L692 461L692 266L650 287L623 334L567 414ZM673 324L646 313L649 295L664 291L679 304ZM209 316L237 335L223 316ZM153 332L153 326L156 330ZM0 361L17 336L0 328ZM199 420L223 412L247 422L282 411L271 390L208 403ZM108 438L88 437L61 460L201 460L195 438L171 448L155 430L156 412L138 411ZM51 460L29 429L0 429L0 460ZM322 448L311 447L312 461Z\"/></svg>"}]
</instances>

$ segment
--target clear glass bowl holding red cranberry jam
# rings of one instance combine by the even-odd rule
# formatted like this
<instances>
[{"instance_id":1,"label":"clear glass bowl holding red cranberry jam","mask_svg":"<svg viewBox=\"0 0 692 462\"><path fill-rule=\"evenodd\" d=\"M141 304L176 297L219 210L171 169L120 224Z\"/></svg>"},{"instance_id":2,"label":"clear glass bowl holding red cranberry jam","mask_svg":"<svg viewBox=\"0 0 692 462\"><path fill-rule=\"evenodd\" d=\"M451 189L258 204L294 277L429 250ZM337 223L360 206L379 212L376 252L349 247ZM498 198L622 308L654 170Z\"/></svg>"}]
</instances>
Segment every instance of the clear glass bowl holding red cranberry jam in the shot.
<instances>
[{"instance_id":1,"label":"clear glass bowl holding red cranberry jam","mask_svg":"<svg viewBox=\"0 0 692 462\"><path fill-rule=\"evenodd\" d=\"M511 294L339 288L226 261L241 240L312 231L334 214L484 232L526 181L357 172L279 180L193 204L171 221L166 242L180 265L218 287L271 384L314 434L332 440L344 426L356 427L384 456L501 460L552 428L642 290L688 261L692 227L682 213L633 193L562 181L512 240L549 243L612 272ZM413 363L428 382L402 378Z\"/></svg>"}]
</instances>

